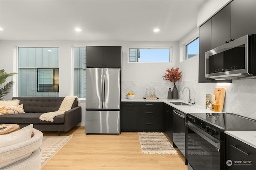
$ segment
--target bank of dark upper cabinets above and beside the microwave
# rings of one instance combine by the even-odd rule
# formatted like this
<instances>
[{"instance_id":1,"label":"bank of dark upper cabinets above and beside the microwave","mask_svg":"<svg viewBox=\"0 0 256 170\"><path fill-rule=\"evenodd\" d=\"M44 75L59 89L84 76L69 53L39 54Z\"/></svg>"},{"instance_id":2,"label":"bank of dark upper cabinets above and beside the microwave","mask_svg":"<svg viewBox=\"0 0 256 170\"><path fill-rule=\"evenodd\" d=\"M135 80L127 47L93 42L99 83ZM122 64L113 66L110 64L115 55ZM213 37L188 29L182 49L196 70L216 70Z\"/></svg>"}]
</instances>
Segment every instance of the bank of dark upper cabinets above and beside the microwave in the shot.
<instances>
[{"instance_id":1,"label":"bank of dark upper cabinets above and beside the microwave","mask_svg":"<svg viewBox=\"0 0 256 170\"><path fill-rule=\"evenodd\" d=\"M206 51L242 37L256 33L256 1L233 0L210 20L200 26L198 82L216 82L204 77Z\"/></svg>"}]
</instances>

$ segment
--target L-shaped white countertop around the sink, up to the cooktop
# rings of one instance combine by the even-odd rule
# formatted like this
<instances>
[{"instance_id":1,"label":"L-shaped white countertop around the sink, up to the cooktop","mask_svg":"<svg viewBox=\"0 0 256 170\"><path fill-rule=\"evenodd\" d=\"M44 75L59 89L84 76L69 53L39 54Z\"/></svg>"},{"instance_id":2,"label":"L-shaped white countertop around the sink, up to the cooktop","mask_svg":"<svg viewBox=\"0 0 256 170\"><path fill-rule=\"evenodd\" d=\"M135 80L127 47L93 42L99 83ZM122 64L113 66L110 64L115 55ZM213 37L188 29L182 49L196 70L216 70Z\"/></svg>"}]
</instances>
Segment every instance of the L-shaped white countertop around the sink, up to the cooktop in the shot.
<instances>
[{"instance_id":1,"label":"L-shaped white countertop around the sink, up to the cooktop","mask_svg":"<svg viewBox=\"0 0 256 170\"><path fill-rule=\"evenodd\" d=\"M184 113L216 113L215 111L212 111L210 109L206 109L204 106L200 105L190 105L190 106L179 106L172 104L170 102L184 102L187 103L184 100L167 100L167 99L158 99L158 100L146 100L146 99L122 99L122 102L164 102L165 104L168 104L176 109L179 109L180 111L183 111ZM218 112L219 113L219 112Z\"/></svg>"}]
</instances>

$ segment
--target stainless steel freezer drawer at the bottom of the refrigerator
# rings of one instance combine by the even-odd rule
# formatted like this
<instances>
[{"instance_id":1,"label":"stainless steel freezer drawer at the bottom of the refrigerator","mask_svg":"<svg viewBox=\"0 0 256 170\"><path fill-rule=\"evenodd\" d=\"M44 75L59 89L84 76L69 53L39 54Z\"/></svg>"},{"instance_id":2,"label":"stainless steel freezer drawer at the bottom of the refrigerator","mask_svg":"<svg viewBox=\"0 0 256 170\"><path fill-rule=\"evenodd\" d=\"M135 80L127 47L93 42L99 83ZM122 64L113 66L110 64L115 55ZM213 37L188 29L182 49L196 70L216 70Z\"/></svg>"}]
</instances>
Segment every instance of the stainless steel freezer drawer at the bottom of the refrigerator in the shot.
<instances>
[{"instance_id":1,"label":"stainless steel freezer drawer at the bottom of the refrigerator","mask_svg":"<svg viewBox=\"0 0 256 170\"><path fill-rule=\"evenodd\" d=\"M119 132L120 111L86 111L86 134L119 134Z\"/></svg>"}]
</instances>

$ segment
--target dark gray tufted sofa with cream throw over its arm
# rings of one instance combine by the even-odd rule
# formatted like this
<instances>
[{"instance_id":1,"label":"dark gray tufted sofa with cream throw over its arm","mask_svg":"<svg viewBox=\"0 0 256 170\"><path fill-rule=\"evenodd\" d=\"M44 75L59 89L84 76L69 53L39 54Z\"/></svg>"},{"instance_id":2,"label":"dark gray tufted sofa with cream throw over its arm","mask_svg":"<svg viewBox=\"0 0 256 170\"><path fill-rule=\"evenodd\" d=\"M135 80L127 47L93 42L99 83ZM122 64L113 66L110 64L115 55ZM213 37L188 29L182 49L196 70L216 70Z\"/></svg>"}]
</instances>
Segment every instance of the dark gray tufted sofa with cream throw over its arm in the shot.
<instances>
[{"instance_id":1,"label":"dark gray tufted sofa with cream throw over its arm","mask_svg":"<svg viewBox=\"0 0 256 170\"><path fill-rule=\"evenodd\" d=\"M65 111L64 115L54 117L54 121L41 121L40 115L50 111L58 111L64 97L13 97L12 100L20 100L23 104L25 113L1 115L1 124L18 124L20 128L34 124L34 128L40 131L67 132L81 122L82 109L78 106L77 99L74 101L70 110Z\"/></svg>"}]
</instances>

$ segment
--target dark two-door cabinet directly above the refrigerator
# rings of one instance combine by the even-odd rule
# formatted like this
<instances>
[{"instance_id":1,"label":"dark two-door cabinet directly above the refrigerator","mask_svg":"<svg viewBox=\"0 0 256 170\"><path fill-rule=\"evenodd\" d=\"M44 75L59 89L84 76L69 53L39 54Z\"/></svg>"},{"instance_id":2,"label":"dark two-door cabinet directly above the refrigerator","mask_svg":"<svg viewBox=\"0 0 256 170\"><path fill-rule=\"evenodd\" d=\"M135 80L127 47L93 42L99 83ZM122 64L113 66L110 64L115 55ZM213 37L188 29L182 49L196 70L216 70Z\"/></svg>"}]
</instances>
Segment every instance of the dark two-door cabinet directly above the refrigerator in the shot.
<instances>
[{"instance_id":1,"label":"dark two-door cabinet directly above the refrigerator","mask_svg":"<svg viewBox=\"0 0 256 170\"><path fill-rule=\"evenodd\" d=\"M87 46L87 67L121 68L122 49L120 46Z\"/></svg>"}]
</instances>

